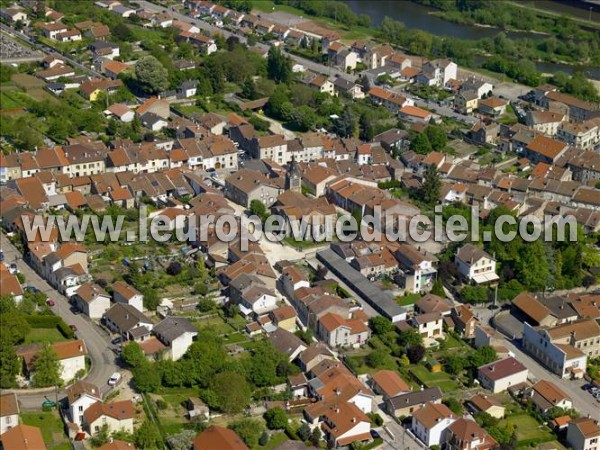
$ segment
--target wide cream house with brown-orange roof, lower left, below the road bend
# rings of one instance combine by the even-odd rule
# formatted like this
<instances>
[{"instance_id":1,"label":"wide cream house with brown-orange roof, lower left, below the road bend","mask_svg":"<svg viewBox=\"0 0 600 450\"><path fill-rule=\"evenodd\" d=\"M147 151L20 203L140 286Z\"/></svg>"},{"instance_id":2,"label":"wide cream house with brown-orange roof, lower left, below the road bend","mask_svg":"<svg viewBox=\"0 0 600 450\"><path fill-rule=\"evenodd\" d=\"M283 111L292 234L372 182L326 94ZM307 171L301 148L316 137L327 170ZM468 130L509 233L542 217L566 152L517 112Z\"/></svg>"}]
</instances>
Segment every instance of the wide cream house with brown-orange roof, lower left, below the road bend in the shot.
<instances>
[{"instance_id":1,"label":"wide cream house with brown-orange roof, lower left, below the road bend","mask_svg":"<svg viewBox=\"0 0 600 450\"><path fill-rule=\"evenodd\" d=\"M83 420L90 435L96 434L104 425L108 427L109 434L117 431L133 433L134 416L135 407L131 400L96 402L83 413Z\"/></svg>"}]
</instances>

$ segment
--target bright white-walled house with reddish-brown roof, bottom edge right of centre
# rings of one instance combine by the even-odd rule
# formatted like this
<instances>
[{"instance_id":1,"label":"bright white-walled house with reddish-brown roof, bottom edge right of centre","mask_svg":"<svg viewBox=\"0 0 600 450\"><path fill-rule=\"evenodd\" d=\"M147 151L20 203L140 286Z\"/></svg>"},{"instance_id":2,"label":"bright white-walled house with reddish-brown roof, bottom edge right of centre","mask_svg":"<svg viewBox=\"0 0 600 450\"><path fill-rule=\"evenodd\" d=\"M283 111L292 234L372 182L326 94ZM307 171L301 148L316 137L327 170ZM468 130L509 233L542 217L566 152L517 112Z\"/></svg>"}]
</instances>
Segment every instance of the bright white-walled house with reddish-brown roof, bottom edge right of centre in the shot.
<instances>
[{"instance_id":1,"label":"bright white-walled house with reddish-brown roof, bottom edge right of centre","mask_svg":"<svg viewBox=\"0 0 600 450\"><path fill-rule=\"evenodd\" d=\"M444 431L456 419L456 415L443 403L428 402L413 413L410 429L427 448L431 448L444 441Z\"/></svg>"}]
</instances>

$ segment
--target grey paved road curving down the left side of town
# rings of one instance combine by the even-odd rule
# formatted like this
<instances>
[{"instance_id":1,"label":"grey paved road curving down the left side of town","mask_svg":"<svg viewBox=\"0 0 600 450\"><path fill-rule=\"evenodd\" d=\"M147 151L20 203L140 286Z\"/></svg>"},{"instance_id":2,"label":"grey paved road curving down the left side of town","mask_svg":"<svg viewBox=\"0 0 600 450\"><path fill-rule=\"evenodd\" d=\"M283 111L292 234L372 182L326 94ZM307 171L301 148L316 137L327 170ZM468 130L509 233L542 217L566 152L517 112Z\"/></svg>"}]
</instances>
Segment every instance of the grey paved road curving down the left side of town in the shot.
<instances>
[{"instance_id":1,"label":"grey paved road curving down the left side of town","mask_svg":"<svg viewBox=\"0 0 600 450\"><path fill-rule=\"evenodd\" d=\"M84 315L73 314L67 298L52 288L25 263L21 253L3 233L0 234L0 248L4 252L6 263L16 261L19 271L25 276L27 285L35 286L56 302L56 305L52 308L54 314L62 317L67 324L77 327L77 337L84 340L88 356L92 361L92 367L86 377L86 381L97 385L102 393L109 391L111 388L107 384L108 378L119 369L115 364L115 355L110 350L109 336L104 334L97 325L88 320ZM18 393L21 408L25 410L40 409L45 396L46 394L25 393L24 391ZM52 393L50 397L54 398L54 394ZM62 395L59 395L60 397Z\"/></svg>"}]
</instances>

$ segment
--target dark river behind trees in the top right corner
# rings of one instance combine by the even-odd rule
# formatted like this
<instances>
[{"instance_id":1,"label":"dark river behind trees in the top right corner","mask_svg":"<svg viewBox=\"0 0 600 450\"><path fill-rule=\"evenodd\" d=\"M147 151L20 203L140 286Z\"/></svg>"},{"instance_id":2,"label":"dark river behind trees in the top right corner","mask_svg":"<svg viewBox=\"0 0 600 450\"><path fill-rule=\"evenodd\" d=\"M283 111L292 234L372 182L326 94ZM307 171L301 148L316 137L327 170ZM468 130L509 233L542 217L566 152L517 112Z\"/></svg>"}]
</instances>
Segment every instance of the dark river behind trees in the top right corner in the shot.
<instances>
[{"instance_id":1,"label":"dark river behind trees in the top right corner","mask_svg":"<svg viewBox=\"0 0 600 450\"><path fill-rule=\"evenodd\" d=\"M417 3L408 0L393 1L393 0L346 0L346 3L357 14L367 14L371 17L374 25L379 25L384 17L403 22L407 28L419 29L438 36L453 36L459 39L476 40L485 37L493 37L500 32L497 28L478 27L474 25L463 25L432 16L430 13L435 11ZM565 15L572 15L580 18L589 16L588 4L569 0L568 4L550 1L550 0L535 0L531 2L537 8L550 10ZM579 7L577 7L577 6ZM592 10L592 19L600 20L600 5L594 7L590 5ZM597 12L595 12L597 10ZM586 15L587 14L587 15ZM505 32L512 39L540 39L542 35L527 32ZM572 74L575 71L583 71L589 78L600 80L600 68L598 67L574 67L568 64L555 64L548 62L536 63L537 69L542 73L554 73L562 71Z\"/></svg>"}]
</instances>

